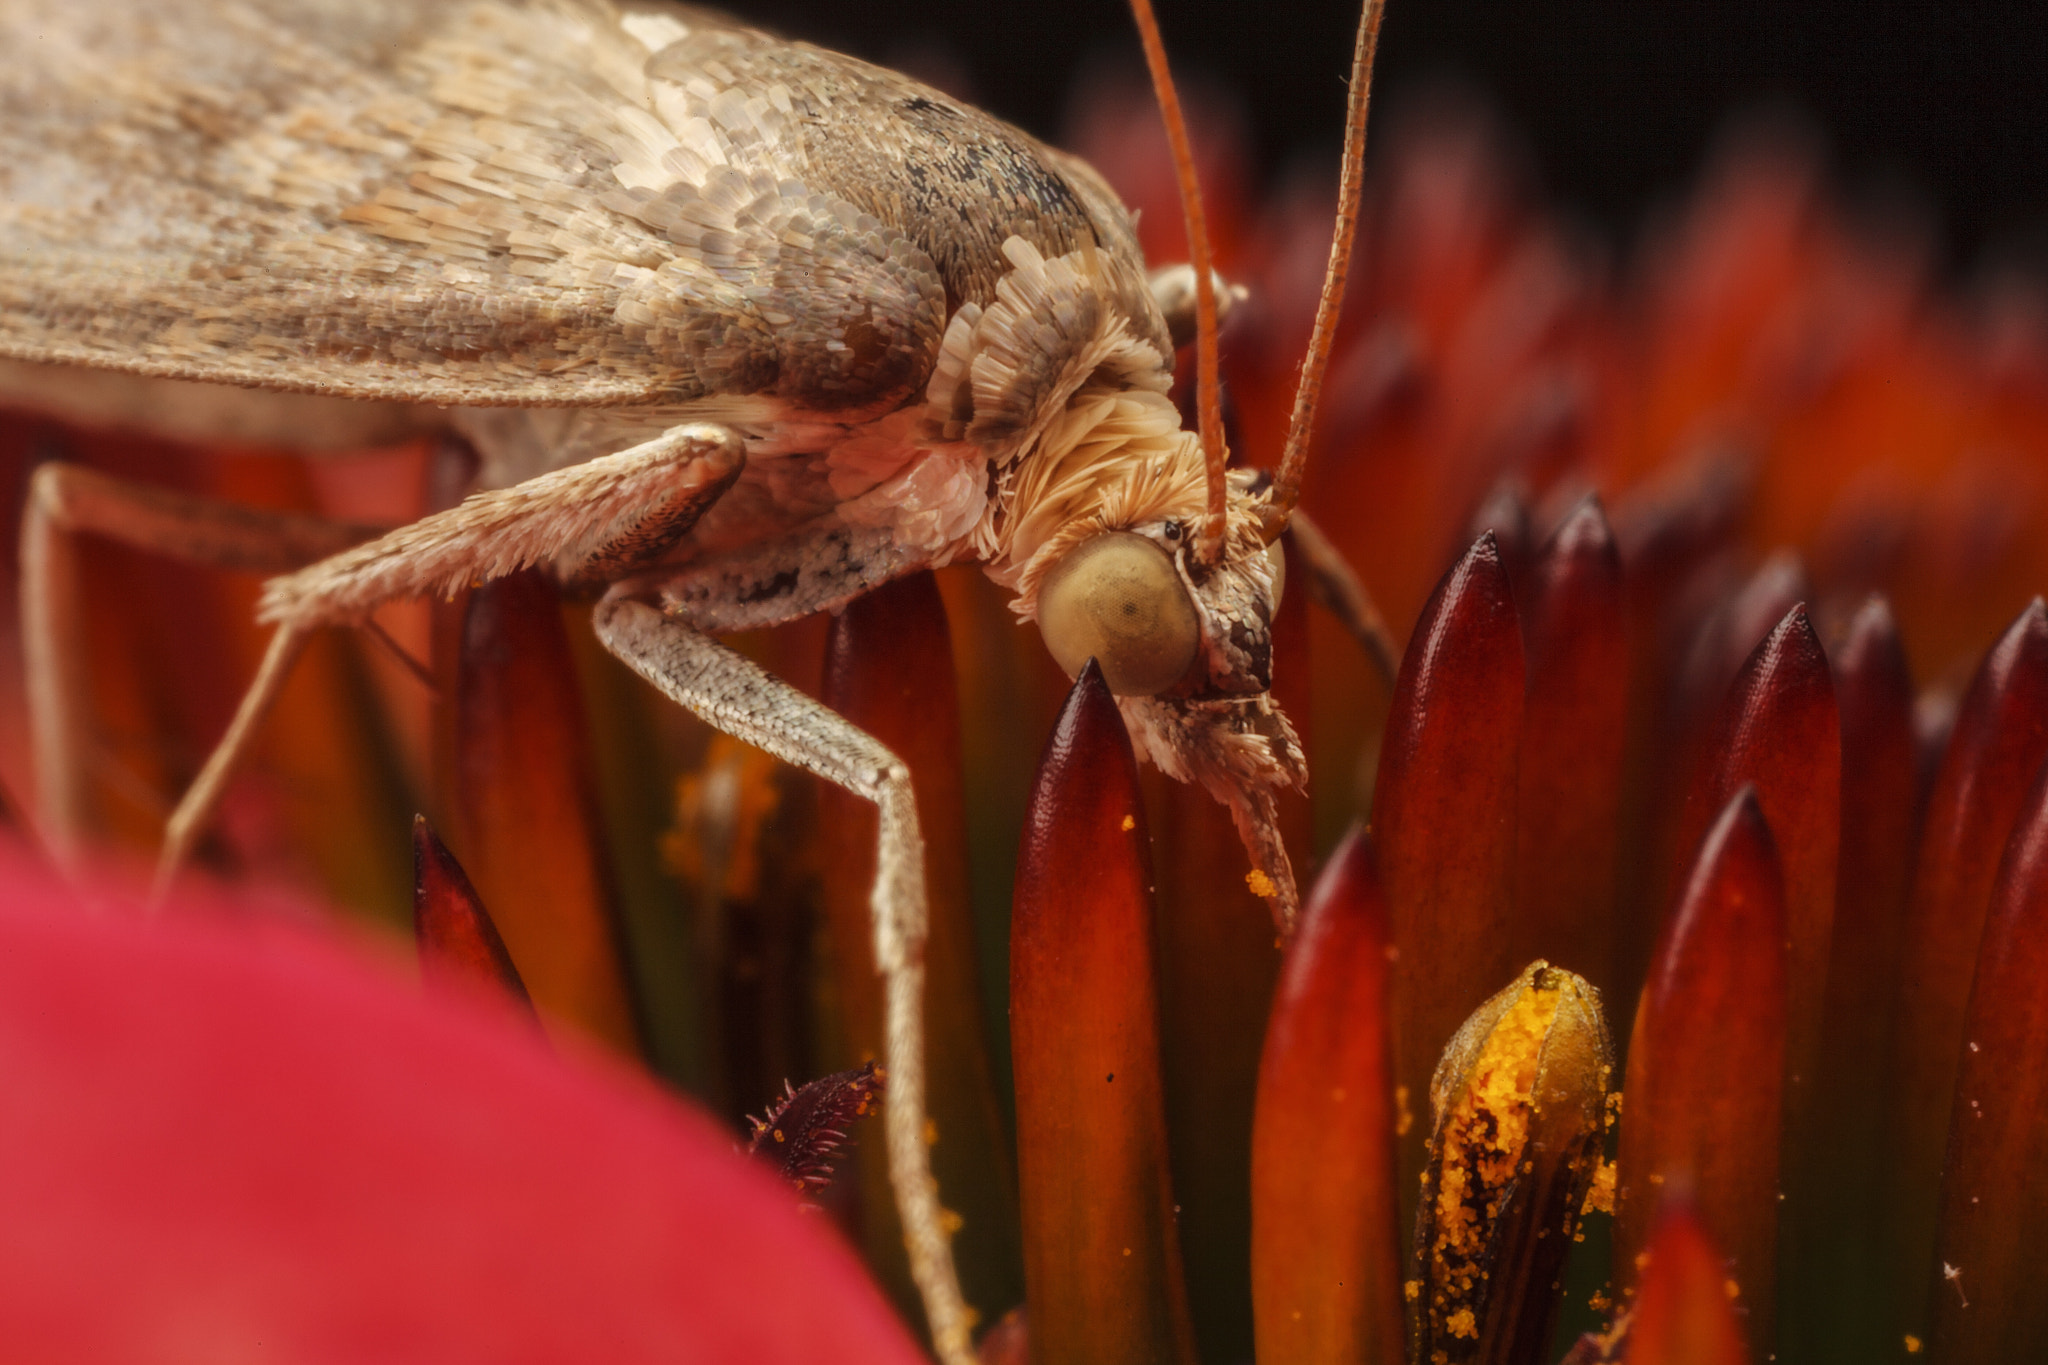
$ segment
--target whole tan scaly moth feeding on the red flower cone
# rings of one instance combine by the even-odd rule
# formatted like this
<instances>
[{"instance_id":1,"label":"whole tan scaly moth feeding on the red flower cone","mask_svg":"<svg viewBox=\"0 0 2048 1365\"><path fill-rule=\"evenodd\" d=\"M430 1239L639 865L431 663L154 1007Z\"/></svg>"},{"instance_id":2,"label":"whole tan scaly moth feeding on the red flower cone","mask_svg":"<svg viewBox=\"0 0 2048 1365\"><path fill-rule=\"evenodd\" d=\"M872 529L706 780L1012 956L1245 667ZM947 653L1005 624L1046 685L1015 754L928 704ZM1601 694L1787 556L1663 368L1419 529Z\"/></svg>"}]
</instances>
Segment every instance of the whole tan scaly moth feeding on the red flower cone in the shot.
<instances>
[{"instance_id":1,"label":"whole tan scaly moth feeding on the red flower cone","mask_svg":"<svg viewBox=\"0 0 2048 1365\"><path fill-rule=\"evenodd\" d=\"M891 1181L938 1351L971 1359L922 1142L909 776L717 636L979 563L1069 671L1100 663L1145 757L1229 804L1284 925L1274 794L1305 765L1268 628L1300 442L1264 485L1182 430L1167 313L1212 297L1200 248L1192 291L1155 282L1083 162L655 0L8 0L0 51L16 397L315 444L446 426L481 456L461 505L369 540L45 465L23 589L57 845L59 530L291 569L166 872L311 630L530 567L594 593L600 641L655 688L881 808ZM1346 213L1356 164L1354 145ZM1202 342L1212 358L1212 319Z\"/></svg>"}]
</instances>

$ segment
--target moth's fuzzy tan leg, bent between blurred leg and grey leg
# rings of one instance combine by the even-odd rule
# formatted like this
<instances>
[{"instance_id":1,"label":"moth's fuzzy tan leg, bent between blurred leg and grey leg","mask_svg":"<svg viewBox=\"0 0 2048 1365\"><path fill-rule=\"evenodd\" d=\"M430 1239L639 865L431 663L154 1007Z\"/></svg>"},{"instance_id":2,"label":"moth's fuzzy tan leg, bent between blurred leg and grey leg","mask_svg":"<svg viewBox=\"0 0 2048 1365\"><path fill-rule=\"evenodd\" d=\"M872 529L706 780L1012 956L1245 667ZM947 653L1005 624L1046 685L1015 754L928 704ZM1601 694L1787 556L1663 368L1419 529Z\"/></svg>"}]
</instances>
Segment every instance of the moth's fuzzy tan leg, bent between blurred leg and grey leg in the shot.
<instances>
[{"instance_id":1,"label":"moth's fuzzy tan leg, bent between blurred leg and grey leg","mask_svg":"<svg viewBox=\"0 0 2048 1365\"><path fill-rule=\"evenodd\" d=\"M227 776L311 630L356 624L385 602L434 591L453 596L535 565L551 565L559 577L575 581L592 567L637 563L674 544L733 485L743 465L745 444L731 428L678 426L618 454L473 493L457 508L264 583L260 612L279 632L233 724L170 817L158 855L158 890L213 814Z\"/></svg>"}]
</instances>

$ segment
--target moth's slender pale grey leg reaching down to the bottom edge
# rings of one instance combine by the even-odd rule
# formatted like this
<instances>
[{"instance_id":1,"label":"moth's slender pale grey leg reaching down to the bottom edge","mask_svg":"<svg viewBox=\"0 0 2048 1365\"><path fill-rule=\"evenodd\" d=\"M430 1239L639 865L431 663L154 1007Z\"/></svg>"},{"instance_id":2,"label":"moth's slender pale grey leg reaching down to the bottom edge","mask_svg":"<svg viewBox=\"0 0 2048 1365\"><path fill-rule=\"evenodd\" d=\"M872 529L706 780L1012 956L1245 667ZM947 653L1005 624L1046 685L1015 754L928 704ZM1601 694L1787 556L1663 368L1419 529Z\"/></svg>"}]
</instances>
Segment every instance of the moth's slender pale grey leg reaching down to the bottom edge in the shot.
<instances>
[{"instance_id":1,"label":"moth's slender pale grey leg reaching down to the bottom edge","mask_svg":"<svg viewBox=\"0 0 2048 1365\"><path fill-rule=\"evenodd\" d=\"M946 1365L971 1365L971 1310L952 1269L924 1107L924 837L909 769L844 716L688 622L629 598L598 604L598 639L709 724L805 767L881 810L874 849L874 970L885 978L885 1136L911 1277Z\"/></svg>"}]
</instances>

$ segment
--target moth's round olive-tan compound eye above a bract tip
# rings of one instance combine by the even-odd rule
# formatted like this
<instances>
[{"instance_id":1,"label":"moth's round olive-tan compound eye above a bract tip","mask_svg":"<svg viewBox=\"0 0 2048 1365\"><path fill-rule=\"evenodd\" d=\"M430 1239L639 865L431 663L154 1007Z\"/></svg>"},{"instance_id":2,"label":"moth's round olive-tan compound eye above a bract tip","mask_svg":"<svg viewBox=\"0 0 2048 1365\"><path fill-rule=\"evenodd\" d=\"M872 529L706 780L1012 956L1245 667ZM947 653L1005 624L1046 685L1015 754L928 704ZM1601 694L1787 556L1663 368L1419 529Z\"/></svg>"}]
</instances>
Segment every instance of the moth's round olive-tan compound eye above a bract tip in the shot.
<instances>
[{"instance_id":1,"label":"moth's round olive-tan compound eye above a bract tip","mask_svg":"<svg viewBox=\"0 0 2048 1365\"><path fill-rule=\"evenodd\" d=\"M1038 583L1038 632L1073 677L1094 659L1118 696L1153 696L1194 663L1200 624L1174 561L1110 530L1067 551Z\"/></svg>"}]
</instances>

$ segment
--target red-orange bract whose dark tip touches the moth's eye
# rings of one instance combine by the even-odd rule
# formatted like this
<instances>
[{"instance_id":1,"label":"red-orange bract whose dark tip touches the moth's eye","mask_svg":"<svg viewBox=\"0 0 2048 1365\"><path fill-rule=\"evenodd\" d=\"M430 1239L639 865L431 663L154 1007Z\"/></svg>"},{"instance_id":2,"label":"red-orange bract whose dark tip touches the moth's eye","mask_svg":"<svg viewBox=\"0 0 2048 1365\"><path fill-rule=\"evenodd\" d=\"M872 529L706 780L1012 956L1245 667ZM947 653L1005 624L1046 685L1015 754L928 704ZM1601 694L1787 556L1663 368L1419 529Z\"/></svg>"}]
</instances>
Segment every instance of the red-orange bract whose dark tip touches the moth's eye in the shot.
<instances>
[{"instance_id":1,"label":"red-orange bract whose dark tip touches the moth's eye","mask_svg":"<svg viewBox=\"0 0 2048 1365\"><path fill-rule=\"evenodd\" d=\"M1024 1291L1036 1365L1192 1365L1159 1081L1137 761L1090 663L1047 745L1010 921Z\"/></svg>"}]
</instances>

